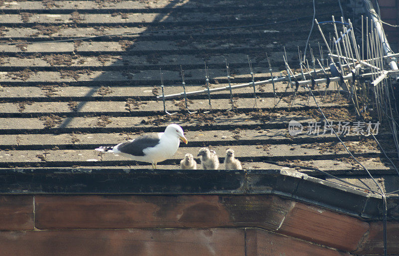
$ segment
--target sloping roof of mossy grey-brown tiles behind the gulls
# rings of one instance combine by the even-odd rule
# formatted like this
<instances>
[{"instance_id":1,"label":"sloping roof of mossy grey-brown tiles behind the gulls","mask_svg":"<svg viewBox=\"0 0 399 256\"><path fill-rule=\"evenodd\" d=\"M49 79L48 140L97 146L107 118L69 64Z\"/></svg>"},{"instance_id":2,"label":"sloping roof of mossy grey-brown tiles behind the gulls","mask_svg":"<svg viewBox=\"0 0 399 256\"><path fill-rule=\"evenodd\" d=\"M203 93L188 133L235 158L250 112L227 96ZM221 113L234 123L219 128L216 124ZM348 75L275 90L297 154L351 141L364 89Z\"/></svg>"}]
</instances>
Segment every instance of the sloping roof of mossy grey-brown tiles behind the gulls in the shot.
<instances>
[{"instance_id":1,"label":"sloping roof of mossy grey-brown tiles behind the gulls","mask_svg":"<svg viewBox=\"0 0 399 256\"><path fill-rule=\"evenodd\" d=\"M326 13L318 11L319 20L329 19L339 10L335 0L317 1L316 8L324 10L326 4L331 8ZM163 131L176 122L186 131L189 144L182 145L175 157L159 168L176 169L186 153L196 155L200 147L209 146L220 158L232 148L245 169L281 168L265 162L277 161L319 168L350 180L367 180L334 135L288 134L290 120L305 126L321 120L306 88L299 88L293 102L288 84L276 83L278 103L274 105L272 86L257 86L257 108L253 108L251 87L235 89L233 111L226 111L230 108L228 91L212 93L213 112L208 114L202 113L208 108L206 94L189 97L189 109L199 111L197 114L188 114L181 98L167 100L168 111L179 111L173 116L163 113L162 100L155 97L161 94L160 68L165 94L171 94L183 90L181 65L187 91L204 88L203 61L209 67L211 88L227 85L225 59L232 84L251 81L246 55L252 62L255 81L270 78L265 52L274 76L284 69L283 46L288 62L297 67L297 46L303 50L313 14L311 6L311 2L303 1L284 5L279 1L252 1L242 5L234 0L217 5L202 1L2 2L1 31L7 42L141 34L0 45L0 167L148 168L93 149ZM253 24L259 25L247 27ZM234 28L214 29L226 26ZM312 47L317 47L320 39L314 30ZM318 54L317 48L314 52ZM325 90L325 84L314 90L327 118L355 121L351 104L335 90L332 85ZM384 147L390 145L384 128L377 138ZM387 179L381 175L397 179L371 137L347 135L342 139L383 183ZM320 177L317 172L313 174Z\"/></svg>"}]
</instances>

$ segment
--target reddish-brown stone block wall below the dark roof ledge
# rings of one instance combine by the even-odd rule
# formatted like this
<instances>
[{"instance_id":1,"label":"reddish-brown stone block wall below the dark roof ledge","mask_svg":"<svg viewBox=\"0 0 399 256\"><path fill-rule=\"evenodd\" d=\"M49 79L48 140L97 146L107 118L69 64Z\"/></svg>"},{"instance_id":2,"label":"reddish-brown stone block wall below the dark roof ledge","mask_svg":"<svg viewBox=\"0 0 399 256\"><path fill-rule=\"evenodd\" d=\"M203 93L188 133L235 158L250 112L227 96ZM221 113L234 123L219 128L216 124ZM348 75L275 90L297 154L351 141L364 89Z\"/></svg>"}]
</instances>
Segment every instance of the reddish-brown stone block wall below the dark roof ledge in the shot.
<instances>
[{"instance_id":1,"label":"reddish-brown stone block wall below the dark roof ledge","mask_svg":"<svg viewBox=\"0 0 399 256\"><path fill-rule=\"evenodd\" d=\"M381 223L272 195L5 195L0 230L1 256L382 252ZM392 255L398 230L399 222L389 223Z\"/></svg>"}]
</instances>

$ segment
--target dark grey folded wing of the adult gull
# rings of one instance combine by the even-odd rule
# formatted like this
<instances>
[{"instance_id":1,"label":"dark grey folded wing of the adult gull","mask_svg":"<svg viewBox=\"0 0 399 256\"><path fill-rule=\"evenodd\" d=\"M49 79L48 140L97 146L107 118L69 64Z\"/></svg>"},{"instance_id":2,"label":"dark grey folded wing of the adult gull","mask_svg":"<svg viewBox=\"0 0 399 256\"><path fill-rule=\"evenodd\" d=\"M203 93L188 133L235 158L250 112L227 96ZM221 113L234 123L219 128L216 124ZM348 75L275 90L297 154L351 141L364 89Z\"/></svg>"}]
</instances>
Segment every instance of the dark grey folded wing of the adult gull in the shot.
<instances>
[{"instance_id":1,"label":"dark grey folded wing of the adult gull","mask_svg":"<svg viewBox=\"0 0 399 256\"><path fill-rule=\"evenodd\" d=\"M118 150L122 153L133 156L145 156L143 150L155 147L159 143L156 135L144 135L137 137L133 141L127 141L118 146Z\"/></svg>"}]
</instances>

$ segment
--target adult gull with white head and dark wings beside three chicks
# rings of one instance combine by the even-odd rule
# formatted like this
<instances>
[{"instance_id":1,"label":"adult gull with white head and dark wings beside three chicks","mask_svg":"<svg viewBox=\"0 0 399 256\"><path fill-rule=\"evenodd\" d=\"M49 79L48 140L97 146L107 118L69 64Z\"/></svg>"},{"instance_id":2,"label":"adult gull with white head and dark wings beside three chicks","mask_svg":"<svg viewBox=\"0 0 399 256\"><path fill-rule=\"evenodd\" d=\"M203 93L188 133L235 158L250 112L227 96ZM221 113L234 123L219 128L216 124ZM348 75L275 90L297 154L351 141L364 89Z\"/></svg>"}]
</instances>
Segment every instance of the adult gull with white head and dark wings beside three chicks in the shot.
<instances>
[{"instance_id":1,"label":"adult gull with white head and dark wings beside three chicks","mask_svg":"<svg viewBox=\"0 0 399 256\"><path fill-rule=\"evenodd\" d=\"M170 124L166 127L165 132L160 132L158 135L144 135L113 147L99 147L95 150L111 152L135 161L148 162L154 169L157 169L158 162L169 159L176 153L180 146L180 139L184 143L188 143L182 127Z\"/></svg>"}]
</instances>

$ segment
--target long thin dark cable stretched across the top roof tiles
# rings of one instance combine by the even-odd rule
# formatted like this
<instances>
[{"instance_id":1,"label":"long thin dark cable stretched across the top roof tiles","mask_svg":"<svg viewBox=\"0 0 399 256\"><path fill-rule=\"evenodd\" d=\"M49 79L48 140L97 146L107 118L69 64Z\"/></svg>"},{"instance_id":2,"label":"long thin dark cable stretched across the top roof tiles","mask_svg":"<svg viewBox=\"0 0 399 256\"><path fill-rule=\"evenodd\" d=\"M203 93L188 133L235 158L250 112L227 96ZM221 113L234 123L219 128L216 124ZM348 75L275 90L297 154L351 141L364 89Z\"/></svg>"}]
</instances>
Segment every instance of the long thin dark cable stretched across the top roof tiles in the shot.
<instances>
[{"instance_id":1,"label":"long thin dark cable stretched across the top roof tiles","mask_svg":"<svg viewBox=\"0 0 399 256\"><path fill-rule=\"evenodd\" d=\"M333 11L337 12L337 11ZM321 13L320 16L322 15L327 15L331 14L331 12L324 12ZM242 25L242 26L222 26L222 27L209 27L209 28L192 28L192 29L169 29L169 30L146 30L143 32L132 32L132 33L119 33L119 34L108 34L108 35L93 35L93 36L86 36L86 37L78 37L78 38L70 38L70 39L62 39L62 40L53 40L53 41L37 41L37 42L0 42L0 45L12 45L12 44L21 44L21 43L26 43L26 44L36 44L36 43L58 43L58 42L70 42L70 41L79 41L79 40L89 40L89 39L94 39L94 38L101 38L101 37L114 37L114 36L121 36L121 35L141 35L141 34L146 34L146 33L165 33L165 32L193 32L193 31L202 31L202 30L220 30L220 29L233 29L233 28L245 28L245 27L257 27L257 26L268 26L268 25L273 25L273 24L281 24L281 23L287 23L287 22L292 22L295 20L300 20L300 19L305 19L312 17L311 15L308 16L302 16L302 17L297 17L297 18L292 18L292 19L287 19L287 20L282 20L282 21L275 21L272 23L259 23L259 24L252 24L252 25Z\"/></svg>"}]
</instances>

